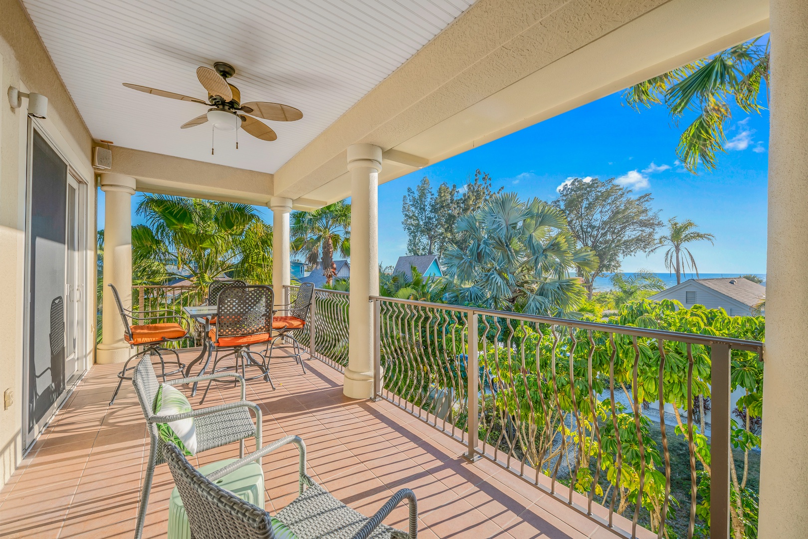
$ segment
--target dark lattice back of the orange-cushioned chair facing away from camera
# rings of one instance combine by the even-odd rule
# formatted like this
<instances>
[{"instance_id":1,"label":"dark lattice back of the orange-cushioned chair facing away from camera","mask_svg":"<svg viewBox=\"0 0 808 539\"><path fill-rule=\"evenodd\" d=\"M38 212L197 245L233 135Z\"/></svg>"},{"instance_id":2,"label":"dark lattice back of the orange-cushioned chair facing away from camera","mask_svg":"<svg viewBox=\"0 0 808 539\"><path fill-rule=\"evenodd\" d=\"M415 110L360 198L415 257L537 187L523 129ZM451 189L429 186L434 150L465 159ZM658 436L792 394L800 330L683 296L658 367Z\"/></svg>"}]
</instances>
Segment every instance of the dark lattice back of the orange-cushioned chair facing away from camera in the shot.
<instances>
[{"instance_id":1,"label":"dark lattice back of the orange-cushioned chair facing away from camera","mask_svg":"<svg viewBox=\"0 0 808 539\"><path fill-rule=\"evenodd\" d=\"M223 288L217 301L217 340L272 331L274 299L265 284Z\"/></svg>"}]
</instances>

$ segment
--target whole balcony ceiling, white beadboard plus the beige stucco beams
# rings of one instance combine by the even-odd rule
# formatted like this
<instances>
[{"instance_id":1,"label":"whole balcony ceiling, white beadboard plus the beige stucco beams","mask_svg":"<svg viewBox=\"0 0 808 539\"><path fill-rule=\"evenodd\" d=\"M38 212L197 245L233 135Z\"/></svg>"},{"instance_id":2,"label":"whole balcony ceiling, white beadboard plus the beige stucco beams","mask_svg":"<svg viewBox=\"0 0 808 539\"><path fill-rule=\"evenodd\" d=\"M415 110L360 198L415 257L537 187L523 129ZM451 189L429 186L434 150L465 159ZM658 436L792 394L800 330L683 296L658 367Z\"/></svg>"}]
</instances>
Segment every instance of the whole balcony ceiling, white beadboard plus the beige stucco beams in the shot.
<instances>
[{"instance_id":1,"label":"whole balcony ceiling, white beadboard plus the beige stucco beams","mask_svg":"<svg viewBox=\"0 0 808 539\"><path fill-rule=\"evenodd\" d=\"M23 2L93 137L115 142L113 172L299 209L351 196L349 145L381 147L385 183L768 32L767 0ZM242 102L302 120L237 150L210 124L179 128L204 105L122 86L204 98L195 70L216 61Z\"/></svg>"}]
</instances>

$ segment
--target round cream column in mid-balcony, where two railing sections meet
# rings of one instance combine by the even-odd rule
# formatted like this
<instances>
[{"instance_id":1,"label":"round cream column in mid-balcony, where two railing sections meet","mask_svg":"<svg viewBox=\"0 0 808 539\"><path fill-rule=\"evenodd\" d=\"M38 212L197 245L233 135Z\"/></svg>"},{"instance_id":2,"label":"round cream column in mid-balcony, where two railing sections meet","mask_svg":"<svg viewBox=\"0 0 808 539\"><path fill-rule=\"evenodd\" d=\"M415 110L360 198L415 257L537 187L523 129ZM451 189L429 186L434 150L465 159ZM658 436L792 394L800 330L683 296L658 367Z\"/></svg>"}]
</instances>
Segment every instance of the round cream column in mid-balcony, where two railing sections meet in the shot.
<instances>
[{"instance_id":1,"label":"round cream column in mid-balcony, where two railing sections meet","mask_svg":"<svg viewBox=\"0 0 808 539\"><path fill-rule=\"evenodd\" d=\"M378 188L381 148L348 146L351 171L351 306L348 367L343 394L370 398L373 391L373 320L368 297L379 294Z\"/></svg>"}]
</instances>

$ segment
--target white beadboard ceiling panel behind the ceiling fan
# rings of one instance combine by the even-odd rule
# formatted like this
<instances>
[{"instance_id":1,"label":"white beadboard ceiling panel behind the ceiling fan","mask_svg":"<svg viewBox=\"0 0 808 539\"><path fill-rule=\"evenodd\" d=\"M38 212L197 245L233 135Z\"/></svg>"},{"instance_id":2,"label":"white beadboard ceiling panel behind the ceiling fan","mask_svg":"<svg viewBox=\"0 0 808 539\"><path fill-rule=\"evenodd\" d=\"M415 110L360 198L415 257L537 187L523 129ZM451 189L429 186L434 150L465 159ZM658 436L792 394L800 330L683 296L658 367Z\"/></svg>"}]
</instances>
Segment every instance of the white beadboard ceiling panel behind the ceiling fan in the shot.
<instances>
[{"instance_id":1,"label":"white beadboard ceiling panel behind the ceiling fan","mask_svg":"<svg viewBox=\"0 0 808 539\"><path fill-rule=\"evenodd\" d=\"M23 0L93 137L274 173L473 0ZM286 103L273 142L179 126L207 109L121 86L206 97L196 67L225 61L242 102Z\"/></svg>"}]
</instances>

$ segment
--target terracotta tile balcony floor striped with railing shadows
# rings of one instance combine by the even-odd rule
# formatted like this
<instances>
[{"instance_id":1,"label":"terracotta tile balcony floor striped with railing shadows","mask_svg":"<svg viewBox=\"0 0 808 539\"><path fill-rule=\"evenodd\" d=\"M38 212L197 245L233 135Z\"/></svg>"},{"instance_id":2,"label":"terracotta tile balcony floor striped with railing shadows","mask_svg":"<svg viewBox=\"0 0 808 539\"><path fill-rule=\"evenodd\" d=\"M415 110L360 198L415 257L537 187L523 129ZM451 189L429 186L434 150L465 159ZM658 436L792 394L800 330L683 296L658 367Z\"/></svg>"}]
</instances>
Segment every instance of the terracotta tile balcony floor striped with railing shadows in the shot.
<instances>
[{"instance_id":1,"label":"terracotta tile balcony floor striped with railing shadows","mask_svg":"<svg viewBox=\"0 0 808 539\"><path fill-rule=\"evenodd\" d=\"M306 367L303 375L291 359L274 360L277 390L252 381L247 399L263 410L264 442L300 435L311 476L357 511L372 515L408 486L425 539L612 535L499 465L467 463L461 444L397 406L344 398L342 374L326 364L306 360ZM0 536L132 537L148 438L130 382L107 406L119 369L96 365L87 373L2 489ZM204 404L237 399L238 390L219 385ZM273 455L263 459L270 512L297 495L297 449ZM204 465L225 457L238 457L238 444L191 459ZM145 537L165 536L173 486L167 466L158 466ZM406 528L406 515L402 505L385 522Z\"/></svg>"}]
</instances>

